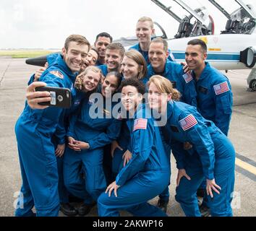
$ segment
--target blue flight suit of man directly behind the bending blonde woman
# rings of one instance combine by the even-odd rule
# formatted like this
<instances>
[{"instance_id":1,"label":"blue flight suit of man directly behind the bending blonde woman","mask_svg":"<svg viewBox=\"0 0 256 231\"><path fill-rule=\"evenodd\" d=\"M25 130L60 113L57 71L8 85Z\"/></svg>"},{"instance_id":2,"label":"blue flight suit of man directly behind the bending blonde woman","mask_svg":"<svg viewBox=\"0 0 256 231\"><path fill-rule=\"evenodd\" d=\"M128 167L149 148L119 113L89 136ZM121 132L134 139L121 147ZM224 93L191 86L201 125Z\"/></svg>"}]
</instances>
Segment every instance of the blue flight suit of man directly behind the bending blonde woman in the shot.
<instances>
[{"instance_id":1,"label":"blue flight suit of man directly behind the bending blonde woman","mask_svg":"<svg viewBox=\"0 0 256 231\"><path fill-rule=\"evenodd\" d=\"M142 79L142 82L146 84L150 77L155 74L156 73L151 64L148 65L148 74L145 78ZM192 77L189 78L187 74L184 73L183 66L181 64L177 64L166 59L166 66L163 73L161 73L161 76L170 80L173 84L173 87L181 92L182 102L193 106L197 105L197 92L195 91L195 82L193 81Z\"/></svg>"}]
</instances>

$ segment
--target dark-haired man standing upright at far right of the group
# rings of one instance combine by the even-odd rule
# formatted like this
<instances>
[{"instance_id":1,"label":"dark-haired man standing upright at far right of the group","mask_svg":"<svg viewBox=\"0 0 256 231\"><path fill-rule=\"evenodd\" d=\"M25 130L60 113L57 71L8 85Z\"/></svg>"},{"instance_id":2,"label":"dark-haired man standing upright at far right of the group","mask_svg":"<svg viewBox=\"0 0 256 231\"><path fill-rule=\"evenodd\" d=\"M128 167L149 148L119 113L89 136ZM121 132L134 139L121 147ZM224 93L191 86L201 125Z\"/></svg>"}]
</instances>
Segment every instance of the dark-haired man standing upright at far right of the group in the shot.
<instances>
[{"instance_id":1,"label":"dark-haired man standing upright at far right of the group","mask_svg":"<svg viewBox=\"0 0 256 231\"><path fill-rule=\"evenodd\" d=\"M201 115L213 121L223 134L228 135L231 121L233 95L229 79L210 64L205 63L207 58L207 45L202 40L191 40L187 45L185 60L192 77L195 79L197 91L197 110ZM197 190L202 196L201 213L209 214L207 198L205 197L205 180Z\"/></svg>"}]
</instances>

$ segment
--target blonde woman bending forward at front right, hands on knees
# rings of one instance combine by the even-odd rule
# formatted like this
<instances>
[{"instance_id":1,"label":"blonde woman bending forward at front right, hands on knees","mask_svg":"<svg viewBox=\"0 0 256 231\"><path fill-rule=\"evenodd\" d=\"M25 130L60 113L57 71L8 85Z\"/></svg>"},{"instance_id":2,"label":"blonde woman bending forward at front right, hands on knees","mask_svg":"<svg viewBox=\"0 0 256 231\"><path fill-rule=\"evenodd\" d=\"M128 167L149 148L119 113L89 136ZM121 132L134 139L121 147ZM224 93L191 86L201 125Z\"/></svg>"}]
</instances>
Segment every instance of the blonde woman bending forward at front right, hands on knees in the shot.
<instances>
[{"instance_id":1,"label":"blonde woman bending forward at front right, hands on knees","mask_svg":"<svg viewBox=\"0 0 256 231\"><path fill-rule=\"evenodd\" d=\"M199 217L196 192L205 178L211 215L232 216L235 151L231 141L197 108L177 101L179 92L168 79L153 76L148 86L148 103L166 118L163 139L171 145L179 169L176 201L187 216ZM185 149L186 142L191 147Z\"/></svg>"}]
</instances>

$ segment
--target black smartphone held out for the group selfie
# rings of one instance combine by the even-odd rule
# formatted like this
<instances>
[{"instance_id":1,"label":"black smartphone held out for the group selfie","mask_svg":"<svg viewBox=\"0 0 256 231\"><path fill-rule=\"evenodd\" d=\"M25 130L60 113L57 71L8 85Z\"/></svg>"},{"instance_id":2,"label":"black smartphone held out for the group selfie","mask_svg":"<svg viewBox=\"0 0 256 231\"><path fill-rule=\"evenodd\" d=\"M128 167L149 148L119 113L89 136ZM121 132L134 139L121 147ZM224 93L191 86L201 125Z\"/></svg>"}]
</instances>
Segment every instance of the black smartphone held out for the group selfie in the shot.
<instances>
[{"instance_id":1,"label":"black smartphone held out for the group selfie","mask_svg":"<svg viewBox=\"0 0 256 231\"><path fill-rule=\"evenodd\" d=\"M63 87L36 87L36 92L50 92L51 101L38 103L40 105L47 105L58 108L70 108L72 95L68 88Z\"/></svg>"}]
</instances>

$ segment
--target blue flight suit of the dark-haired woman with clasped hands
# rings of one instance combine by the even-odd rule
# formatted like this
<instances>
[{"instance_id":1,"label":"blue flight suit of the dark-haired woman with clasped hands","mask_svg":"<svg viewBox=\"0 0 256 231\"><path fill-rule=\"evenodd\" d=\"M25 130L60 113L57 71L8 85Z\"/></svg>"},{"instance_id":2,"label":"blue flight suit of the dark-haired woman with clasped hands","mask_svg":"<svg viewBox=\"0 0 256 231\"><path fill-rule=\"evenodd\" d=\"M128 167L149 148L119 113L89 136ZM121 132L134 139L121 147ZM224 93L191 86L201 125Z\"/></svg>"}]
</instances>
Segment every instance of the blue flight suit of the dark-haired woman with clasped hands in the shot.
<instances>
[{"instance_id":1,"label":"blue flight suit of the dark-haired woman with clasped hands","mask_svg":"<svg viewBox=\"0 0 256 231\"><path fill-rule=\"evenodd\" d=\"M72 115L67 133L67 136L78 141L87 142L90 148L76 152L67 147L64 154L64 184L70 193L84 199L85 204L91 204L92 199L97 201L98 196L106 189L103 147L119 136L121 128L121 121L111 116L112 108L108 107L106 100L103 105L98 104L99 101L94 96L91 95L90 100L84 100L80 110ZM111 105L113 106L114 104ZM99 118L91 117L94 111L100 115ZM80 165L85 173L82 184L80 180L77 182Z\"/></svg>"}]
</instances>

